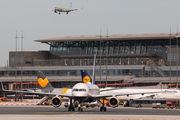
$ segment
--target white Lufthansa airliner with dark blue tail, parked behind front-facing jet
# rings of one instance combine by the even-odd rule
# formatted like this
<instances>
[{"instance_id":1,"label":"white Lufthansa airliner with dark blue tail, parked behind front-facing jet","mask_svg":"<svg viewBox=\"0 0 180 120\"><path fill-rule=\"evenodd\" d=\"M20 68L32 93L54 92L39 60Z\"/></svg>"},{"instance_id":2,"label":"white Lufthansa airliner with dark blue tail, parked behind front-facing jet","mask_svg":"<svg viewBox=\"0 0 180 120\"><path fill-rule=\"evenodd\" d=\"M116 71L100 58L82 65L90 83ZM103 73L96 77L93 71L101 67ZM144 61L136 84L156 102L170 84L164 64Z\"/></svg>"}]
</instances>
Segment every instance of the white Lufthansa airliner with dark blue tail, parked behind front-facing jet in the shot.
<instances>
[{"instance_id":1,"label":"white Lufthansa airliner with dark blue tail, parked behind front-facing jet","mask_svg":"<svg viewBox=\"0 0 180 120\"><path fill-rule=\"evenodd\" d=\"M87 81L92 81L91 77L86 70L81 70L82 81L86 83ZM109 90L108 90L109 89ZM117 96L121 101L131 100L131 99L141 99L142 97L151 97L151 98L164 98L166 101L179 102L180 101L180 90L177 89L113 89L113 88L104 88L101 89L100 94L122 94L122 93L138 93L138 92L155 92L152 94L136 94L136 95L127 95L127 96ZM105 91L107 90L107 91ZM108 99L108 98L107 98Z\"/></svg>"}]
</instances>

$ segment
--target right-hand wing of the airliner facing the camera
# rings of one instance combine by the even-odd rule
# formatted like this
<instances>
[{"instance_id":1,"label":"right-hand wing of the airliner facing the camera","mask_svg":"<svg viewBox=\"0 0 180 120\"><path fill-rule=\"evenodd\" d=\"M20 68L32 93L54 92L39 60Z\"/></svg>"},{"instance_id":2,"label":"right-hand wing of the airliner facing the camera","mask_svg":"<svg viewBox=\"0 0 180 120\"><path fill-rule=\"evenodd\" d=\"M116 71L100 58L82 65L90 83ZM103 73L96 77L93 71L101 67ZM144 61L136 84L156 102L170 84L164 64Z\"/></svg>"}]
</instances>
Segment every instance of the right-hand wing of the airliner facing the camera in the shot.
<instances>
[{"instance_id":1,"label":"right-hand wing of the airliner facing the camera","mask_svg":"<svg viewBox=\"0 0 180 120\"><path fill-rule=\"evenodd\" d=\"M100 94L100 95L90 95L91 97L95 98L104 98L104 97L116 97L116 96L124 96L124 95L137 95L137 94L152 94L152 93L159 93L160 91L154 92L138 92L138 93L121 93L121 94Z\"/></svg>"}]
</instances>

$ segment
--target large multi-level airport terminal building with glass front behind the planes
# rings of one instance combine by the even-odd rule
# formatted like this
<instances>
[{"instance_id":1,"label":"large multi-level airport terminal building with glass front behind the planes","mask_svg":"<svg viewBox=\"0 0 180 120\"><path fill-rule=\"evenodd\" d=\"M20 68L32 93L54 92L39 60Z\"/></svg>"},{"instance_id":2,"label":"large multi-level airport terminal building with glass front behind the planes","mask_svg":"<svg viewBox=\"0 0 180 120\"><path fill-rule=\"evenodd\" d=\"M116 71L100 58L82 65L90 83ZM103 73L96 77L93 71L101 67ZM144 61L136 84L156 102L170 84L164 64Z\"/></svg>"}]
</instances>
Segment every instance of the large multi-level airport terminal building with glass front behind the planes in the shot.
<instances>
[{"instance_id":1,"label":"large multi-level airport terminal building with glass front behind the planes","mask_svg":"<svg viewBox=\"0 0 180 120\"><path fill-rule=\"evenodd\" d=\"M96 84L106 83L106 78L108 84L175 83L180 72L178 34L68 36L35 42L48 44L49 50L9 52L9 65L0 68L1 80L13 83L17 70L20 81L22 64L23 82L37 81L36 72L43 71L53 86L71 87L81 81L80 70L92 75L94 54Z\"/></svg>"}]
</instances>

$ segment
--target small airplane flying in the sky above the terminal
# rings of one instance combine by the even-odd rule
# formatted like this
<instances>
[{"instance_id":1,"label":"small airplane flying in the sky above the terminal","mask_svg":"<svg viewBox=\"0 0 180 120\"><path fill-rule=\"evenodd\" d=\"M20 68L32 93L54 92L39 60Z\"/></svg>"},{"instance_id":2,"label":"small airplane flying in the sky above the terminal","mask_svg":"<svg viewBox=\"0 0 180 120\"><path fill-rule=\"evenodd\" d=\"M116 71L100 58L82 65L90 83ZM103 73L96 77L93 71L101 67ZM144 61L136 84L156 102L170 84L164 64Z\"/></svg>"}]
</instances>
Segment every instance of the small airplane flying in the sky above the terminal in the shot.
<instances>
[{"instance_id":1,"label":"small airplane flying in the sky above the terminal","mask_svg":"<svg viewBox=\"0 0 180 120\"><path fill-rule=\"evenodd\" d=\"M52 10L52 11L54 11L55 13L59 13L59 14L61 14L61 12L66 12L66 14L68 14L69 12L76 11L76 10L79 10L79 9L72 9L72 3L71 3L69 8L55 7L54 10Z\"/></svg>"}]
</instances>

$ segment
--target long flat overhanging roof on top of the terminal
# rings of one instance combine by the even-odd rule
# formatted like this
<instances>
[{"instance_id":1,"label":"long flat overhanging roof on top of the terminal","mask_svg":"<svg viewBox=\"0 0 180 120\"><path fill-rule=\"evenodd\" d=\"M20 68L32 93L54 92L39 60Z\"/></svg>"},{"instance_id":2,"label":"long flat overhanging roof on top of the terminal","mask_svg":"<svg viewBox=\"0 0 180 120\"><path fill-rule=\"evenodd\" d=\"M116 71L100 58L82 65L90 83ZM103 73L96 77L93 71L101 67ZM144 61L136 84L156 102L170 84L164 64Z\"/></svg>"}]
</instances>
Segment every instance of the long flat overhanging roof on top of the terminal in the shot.
<instances>
[{"instance_id":1,"label":"long flat overhanging roof on top of the terminal","mask_svg":"<svg viewBox=\"0 0 180 120\"><path fill-rule=\"evenodd\" d=\"M173 39L179 37L179 34L127 34L127 35L108 35L108 36L67 36L59 38L39 39L35 42L65 42L65 41L97 41L97 40L147 40L147 39Z\"/></svg>"}]
</instances>

